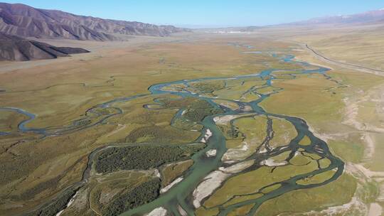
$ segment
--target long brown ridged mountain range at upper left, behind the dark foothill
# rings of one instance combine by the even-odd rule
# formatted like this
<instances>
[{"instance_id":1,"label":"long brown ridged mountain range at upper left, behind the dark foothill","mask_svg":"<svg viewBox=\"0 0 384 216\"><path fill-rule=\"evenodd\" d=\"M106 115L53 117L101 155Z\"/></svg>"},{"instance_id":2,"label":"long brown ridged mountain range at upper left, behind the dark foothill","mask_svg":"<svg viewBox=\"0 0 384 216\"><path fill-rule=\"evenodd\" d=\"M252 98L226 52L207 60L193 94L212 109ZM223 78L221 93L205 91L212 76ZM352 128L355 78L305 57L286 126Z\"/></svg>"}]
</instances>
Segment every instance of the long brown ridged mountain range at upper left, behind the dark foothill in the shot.
<instances>
[{"instance_id":1,"label":"long brown ridged mountain range at upper left, behind the dark foothill","mask_svg":"<svg viewBox=\"0 0 384 216\"><path fill-rule=\"evenodd\" d=\"M63 11L34 9L24 4L0 3L0 32L21 37L113 41L118 40L118 34L169 36L181 31L186 29L78 16Z\"/></svg>"}]
</instances>

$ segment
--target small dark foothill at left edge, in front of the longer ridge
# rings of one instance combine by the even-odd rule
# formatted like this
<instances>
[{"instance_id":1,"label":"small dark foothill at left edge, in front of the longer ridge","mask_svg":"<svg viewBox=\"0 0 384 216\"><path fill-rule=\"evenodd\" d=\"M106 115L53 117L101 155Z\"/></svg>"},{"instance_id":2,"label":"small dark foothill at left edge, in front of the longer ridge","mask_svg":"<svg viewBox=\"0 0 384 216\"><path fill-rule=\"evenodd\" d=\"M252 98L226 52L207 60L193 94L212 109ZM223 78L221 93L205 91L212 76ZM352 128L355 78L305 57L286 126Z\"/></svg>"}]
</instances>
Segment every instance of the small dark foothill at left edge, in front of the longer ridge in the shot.
<instances>
[{"instance_id":1,"label":"small dark foothill at left edge, in front of the longer ridge","mask_svg":"<svg viewBox=\"0 0 384 216\"><path fill-rule=\"evenodd\" d=\"M38 60L89 53L82 48L55 47L4 33L0 33L0 44L0 60Z\"/></svg>"}]
</instances>

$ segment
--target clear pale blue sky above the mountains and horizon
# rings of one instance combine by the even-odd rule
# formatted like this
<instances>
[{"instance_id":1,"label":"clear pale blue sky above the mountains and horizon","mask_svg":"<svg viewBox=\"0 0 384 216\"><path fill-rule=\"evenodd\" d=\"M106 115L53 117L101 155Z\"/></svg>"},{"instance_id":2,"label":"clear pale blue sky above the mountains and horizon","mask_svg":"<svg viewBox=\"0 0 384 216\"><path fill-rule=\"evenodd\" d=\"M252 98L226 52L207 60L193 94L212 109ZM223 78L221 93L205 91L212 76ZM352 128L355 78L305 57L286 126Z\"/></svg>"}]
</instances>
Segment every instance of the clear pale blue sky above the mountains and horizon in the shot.
<instances>
[{"instance_id":1,"label":"clear pale blue sky above the mountains and horizon","mask_svg":"<svg viewBox=\"0 0 384 216\"><path fill-rule=\"evenodd\" d=\"M186 27L264 26L383 9L383 0L20 0L41 9Z\"/></svg>"}]
</instances>

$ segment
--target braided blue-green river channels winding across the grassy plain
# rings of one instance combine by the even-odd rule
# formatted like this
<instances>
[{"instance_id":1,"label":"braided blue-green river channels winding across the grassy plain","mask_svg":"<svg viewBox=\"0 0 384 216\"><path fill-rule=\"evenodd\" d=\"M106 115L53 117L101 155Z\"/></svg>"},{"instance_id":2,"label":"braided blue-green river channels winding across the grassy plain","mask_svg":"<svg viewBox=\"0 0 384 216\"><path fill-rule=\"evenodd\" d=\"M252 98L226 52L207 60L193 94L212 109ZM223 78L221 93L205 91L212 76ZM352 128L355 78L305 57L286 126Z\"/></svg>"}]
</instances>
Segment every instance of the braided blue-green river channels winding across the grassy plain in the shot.
<instances>
[{"instance_id":1,"label":"braided blue-green river channels winding across the grassy plain","mask_svg":"<svg viewBox=\"0 0 384 216\"><path fill-rule=\"evenodd\" d=\"M245 55L258 55L258 54L259 52L255 52L255 53L247 52L247 54ZM294 56L292 55L284 55L284 56L274 55L274 57L279 58L280 60L283 60L287 63L295 63L295 64L302 64L304 66L309 66L308 63L300 63L295 61ZM314 65L310 65L310 66L311 68L317 67ZM322 68L322 67L317 67L311 70L292 70L291 75L292 75L292 78L294 79L299 74L320 74L320 75L324 75L327 79L330 79L330 77L326 75L326 72L328 70L329 69ZM166 209L167 212L172 215L185 215L185 213L187 215L194 215L196 207L193 206L193 199L194 199L193 191L196 190L196 188L204 180L204 178L206 178L206 176L212 173L213 171L218 171L219 168L234 166L237 163L242 163L243 161L247 161L250 159L255 160L255 163L253 166L250 166L244 171L234 173L233 175L231 175L231 178L232 178L233 176L240 175L241 173L244 173L246 171L260 168L260 162L265 161L267 158L270 158L272 156L277 156L280 153L283 153L285 151L294 152L299 148L304 148L304 150L307 153L315 153L321 158L329 159L329 161L331 161L330 165L327 166L326 168L319 168L319 169L316 169L315 171L297 175L278 183L272 183L271 185L279 184L281 185L281 187L277 188L276 190L272 190L269 193L265 193L259 198L255 198L252 200L245 200L242 202L235 203L233 205L227 205L225 207L223 205L220 205L219 215L228 215L228 213L231 212L232 210L235 210L238 207L242 207L250 204L254 204L254 205L250 210L250 212L248 213L248 215L254 215L255 212L257 211L257 208L260 207L260 205L266 200L276 198L277 196L282 195L284 193L288 193L289 191L292 191L292 190L314 188L320 185L325 185L327 183L330 183L333 180L336 180L336 178L338 178L343 173L343 166L344 166L343 161L341 161L339 158L331 154L325 141L314 136L314 134L309 130L309 126L306 124L306 121L298 117L289 117L282 114L270 113L259 106L260 102L262 102L267 97L270 97L270 95L272 94L279 94L279 91L274 91L266 95L259 94L260 97L258 99L255 99L250 102L240 102L238 100L227 99L228 102L238 104L238 107L240 107L240 109L233 110L233 109L224 109L222 106L217 104L215 100L220 98L207 97L206 95L199 95L198 93L196 94L196 92L188 92L187 90L174 91L174 90L169 90L169 88L167 88L167 87L171 87L172 85L188 86L190 85L191 82L204 82L208 80L225 81L225 80L237 80L237 79L238 80L252 80L252 79L265 80L267 86L273 87L272 80L279 79L275 77L273 74L273 72L276 72L276 71L278 70L273 69L273 70L265 70L260 73L256 73L252 75L242 75L242 76L233 76L233 77L206 77L206 78L201 78L196 80L179 80L174 82L156 84L149 87L150 94L147 94L147 95L172 94L172 95L178 95L181 97L198 97L199 99L206 100L210 104L213 104L213 106L215 107L223 109L225 112L222 114L211 115L203 119L202 124L204 126L204 129L202 130L202 134L199 139L203 138L207 130L209 130L212 134L208 139L208 141L206 142L207 147L204 148L202 151L199 151L198 153L193 155L192 157L194 161L193 166L191 166L191 168L189 168L188 171L183 175L183 180L175 184L172 188L166 191L166 193L162 193L159 196L159 198L157 198L156 200L149 202L145 205L139 206L137 208L134 208L132 210L129 210L127 212L124 212L122 215L145 215L159 207L164 207L164 209ZM287 70L284 70L284 71L287 71ZM250 91L252 90L255 90L255 87L250 88ZM84 129L89 126L100 124L106 119L114 115L121 114L122 113L121 109L119 109L118 107L113 107L114 102L124 102L124 101L129 101L131 99L135 99L137 97L144 97L144 96L146 95L124 97L124 98L114 99L110 102L106 102L103 104L99 104L96 107L92 107L91 109L89 109L83 119L77 120L73 122L73 124L70 124L68 126L56 127L54 129L28 128L26 124L32 121L33 119L35 119L36 115L28 113L22 109L17 109L12 107L3 107L3 108L0 108L0 112L12 111L12 112L18 112L19 114L26 115L26 120L21 121L18 124L18 129L20 132L34 132L37 134L43 134L43 136L60 135L60 134L68 133L73 130ZM241 109L242 107L251 107L251 109ZM108 109L108 114L100 114L100 112L98 111L99 109ZM179 114L180 112L178 112L178 115ZM289 121L291 124L294 125L294 128L297 131L297 136L294 139L292 139L292 141L290 141L289 144L287 144L287 146L280 146L265 152L259 151L259 152L253 153L251 156L247 157L245 160L236 161L231 164L224 163L222 158L225 152L228 151L228 149L226 148L226 145L225 145L225 136L223 134L223 131L221 131L218 128L218 126L215 124L214 118L223 117L225 115L236 116L240 114L257 114L257 115L263 115L266 117L275 117L279 119L285 119L286 121ZM97 120L87 121L88 120L87 118L89 118L90 116L92 116L93 119L97 119ZM267 127L266 130L267 130L267 134L270 134L270 132L272 132L271 131L272 129L270 127ZM6 133L3 132L2 134L6 134ZM311 144L309 144L308 146L299 145L299 141L301 141L304 138L304 136L309 137L311 141ZM265 143L263 144L267 145L268 141L269 139L265 139L264 141ZM215 156L207 157L206 152L212 149L216 150ZM83 175L83 179L81 183L85 183L87 181L87 178L90 177L89 170L90 170L90 167L92 166L92 159L93 159L92 157L93 155L95 155L96 151L100 151L100 149L97 149L90 154L90 157L89 157L90 163L88 164L87 171L85 171ZM297 184L298 180L302 180L304 178L308 178L310 176L313 176L319 173L324 173L326 171L331 171L331 170L335 171L334 175L322 183L313 183L313 184L307 184L307 185ZM77 185L79 185L79 183ZM266 187L267 186L270 186L270 185L266 185Z\"/></svg>"}]
</instances>

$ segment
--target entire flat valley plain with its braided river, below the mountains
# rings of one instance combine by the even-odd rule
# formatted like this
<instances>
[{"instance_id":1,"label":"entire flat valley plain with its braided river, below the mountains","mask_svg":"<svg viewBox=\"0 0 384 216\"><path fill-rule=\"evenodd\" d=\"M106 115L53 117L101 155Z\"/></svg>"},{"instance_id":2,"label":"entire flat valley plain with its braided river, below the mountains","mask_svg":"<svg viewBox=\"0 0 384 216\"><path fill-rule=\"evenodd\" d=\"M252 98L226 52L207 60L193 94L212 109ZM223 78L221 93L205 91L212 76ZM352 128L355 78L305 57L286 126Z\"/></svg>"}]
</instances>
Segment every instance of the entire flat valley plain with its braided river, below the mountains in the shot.
<instances>
[{"instance_id":1,"label":"entire flat valley plain with its braided river, below the mountains","mask_svg":"<svg viewBox=\"0 0 384 216\"><path fill-rule=\"evenodd\" d=\"M0 215L382 214L384 28L329 28L1 62Z\"/></svg>"}]
</instances>

